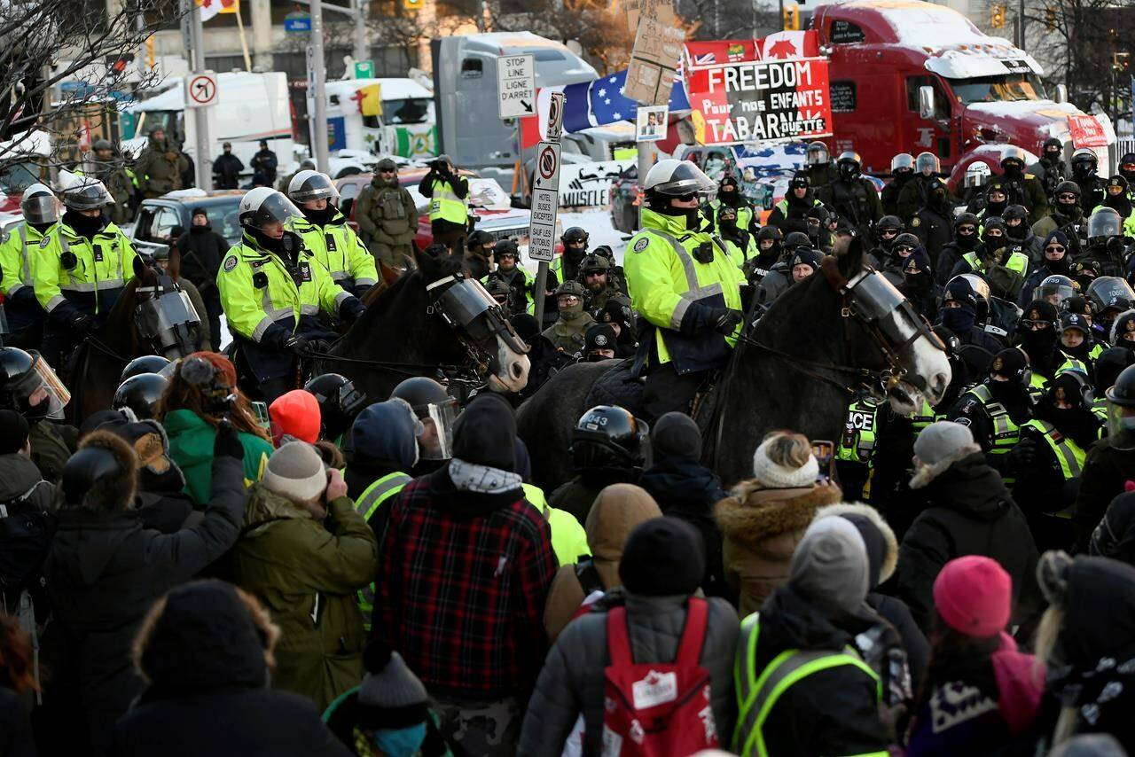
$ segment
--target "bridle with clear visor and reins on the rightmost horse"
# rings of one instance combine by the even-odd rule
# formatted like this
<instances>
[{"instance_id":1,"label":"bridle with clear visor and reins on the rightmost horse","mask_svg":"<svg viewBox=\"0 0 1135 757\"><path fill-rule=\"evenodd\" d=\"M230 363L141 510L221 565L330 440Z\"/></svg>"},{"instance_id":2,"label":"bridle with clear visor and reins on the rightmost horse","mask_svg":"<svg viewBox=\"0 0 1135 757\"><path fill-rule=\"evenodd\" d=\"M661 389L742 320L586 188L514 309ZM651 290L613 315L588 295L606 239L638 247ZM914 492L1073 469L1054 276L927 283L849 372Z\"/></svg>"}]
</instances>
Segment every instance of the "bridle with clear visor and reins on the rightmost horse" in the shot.
<instances>
[{"instance_id":1,"label":"bridle with clear visor and reins on the rightmost horse","mask_svg":"<svg viewBox=\"0 0 1135 757\"><path fill-rule=\"evenodd\" d=\"M883 401L886 393L907 380L920 390L926 389L926 380L922 377L908 379L909 371L903 368L899 355L911 344L925 336L939 350L945 351L945 345L931 329L930 323L923 318L907 300L886 279L871 266L865 266L851 279L847 279L839 270L835 258L827 256L821 262L821 272L827 284L840 294L843 300L840 308L840 316L843 318L844 335L849 319L854 319L871 338L872 344L878 350L886 361L886 365L880 370L868 368L856 368L854 365L841 365L823 361L800 358L766 344L757 342L746 335L741 340L758 350L776 355L788 362L796 364L797 370L815 379L826 381L840 389L855 394L859 389L866 389L876 399ZM891 317L897 322L900 316L906 316L915 325L914 333L899 340L899 335L889 335ZM817 369L817 370L812 370ZM840 381L831 376L825 376L819 370L843 373L858 377L858 384L849 386L846 381Z\"/></svg>"}]
</instances>

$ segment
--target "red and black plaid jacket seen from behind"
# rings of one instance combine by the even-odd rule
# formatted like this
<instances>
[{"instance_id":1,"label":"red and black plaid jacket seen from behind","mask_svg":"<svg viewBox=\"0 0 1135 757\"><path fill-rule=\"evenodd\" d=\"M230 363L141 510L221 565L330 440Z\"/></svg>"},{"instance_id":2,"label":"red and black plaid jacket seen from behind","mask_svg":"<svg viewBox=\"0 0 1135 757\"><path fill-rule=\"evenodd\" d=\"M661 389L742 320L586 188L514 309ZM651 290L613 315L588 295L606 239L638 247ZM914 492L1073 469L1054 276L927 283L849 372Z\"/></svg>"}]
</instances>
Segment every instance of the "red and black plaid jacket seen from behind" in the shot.
<instances>
[{"instance_id":1,"label":"red and black plaid jacket seen from behind","mask_svg":"<svg viewBox=\"0 0 1135 757\"><path fill-rule=\"evenodd\" d=\"M430 693L527 696L547 651L544 602L557 563L520 489L462 491L443 469L390 506L379 549L375 633Z\"/></svg>"}]
</instances>

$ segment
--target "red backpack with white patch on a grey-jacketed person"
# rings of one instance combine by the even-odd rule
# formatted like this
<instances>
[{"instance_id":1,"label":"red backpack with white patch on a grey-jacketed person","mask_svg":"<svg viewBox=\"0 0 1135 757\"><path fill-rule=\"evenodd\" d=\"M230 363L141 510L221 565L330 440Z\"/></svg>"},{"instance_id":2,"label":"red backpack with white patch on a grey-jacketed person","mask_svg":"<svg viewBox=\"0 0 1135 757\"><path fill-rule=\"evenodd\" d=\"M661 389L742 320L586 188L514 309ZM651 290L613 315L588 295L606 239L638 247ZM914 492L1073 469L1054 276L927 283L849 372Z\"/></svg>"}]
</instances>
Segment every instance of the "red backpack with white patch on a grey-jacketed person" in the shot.
<instances>
[{"instance_id":1,"label":"red backpack with white patch on a grey-jacketed person","mask_svg":"<svg viewBox=\"0 0 1135 757\"><path fill-rule=\"evenodd\" d=\"M627 609L607 612L604 757L681 756L717 746L709 673L699 664L707 621L706 600L691 597L674 662L637 665Z\"/></svg>"}]
</instances>

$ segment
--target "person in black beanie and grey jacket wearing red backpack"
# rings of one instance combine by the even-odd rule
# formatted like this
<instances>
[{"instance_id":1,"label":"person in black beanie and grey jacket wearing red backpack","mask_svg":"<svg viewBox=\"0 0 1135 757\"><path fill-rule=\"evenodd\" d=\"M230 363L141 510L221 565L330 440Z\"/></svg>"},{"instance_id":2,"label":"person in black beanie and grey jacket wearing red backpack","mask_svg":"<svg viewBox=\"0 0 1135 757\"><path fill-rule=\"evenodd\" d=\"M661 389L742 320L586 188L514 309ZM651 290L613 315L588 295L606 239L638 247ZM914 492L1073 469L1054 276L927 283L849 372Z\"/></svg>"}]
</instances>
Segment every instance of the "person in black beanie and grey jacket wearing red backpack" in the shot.
<instances>
[{"instance_id":1,"label":"person in black beanie and grey jacket wearing red backpack","mask_svg":"<svg viewBox=\"0 0 1135 757\"><path fill-rule=\"evenodd\" d=\"M634 668L627 668L648 663L673 663L679 670L676 680L687 685L687 675L701 670L708 673L712 713L699 712L704 707L700 695L695 707L701 720L695 720L693 725L701 725L704 732L696 729L695 734L680 733L672 720L664 738L673 745L682 740L688 746L698 738L704 739L698 746L726 743L734 718L737 615L724 599L692 596L704 574L700 537L686 522L655 518L631 531L619 562L623 591L617 596L608 594L590 613L564 629L552 647L524 716L518 754L557 755L565 748L580 747L582 754L598 754L609 738L611 721L605 713L614 706L604 693L605 672L617 675L615 680L625 682L629 690L636 679ZM622 648L612 636L616 624ZM691 632L703 641L689 645L692 655L683 659L681 650ZM644 683L633 685L638 691ZM638 697L634 699L638 705ZM647 709L649 705L638 707ZM575 727L580 717L582 733ZM650 737L659 738L656 733Z\"/></svg>"}]
</instances>

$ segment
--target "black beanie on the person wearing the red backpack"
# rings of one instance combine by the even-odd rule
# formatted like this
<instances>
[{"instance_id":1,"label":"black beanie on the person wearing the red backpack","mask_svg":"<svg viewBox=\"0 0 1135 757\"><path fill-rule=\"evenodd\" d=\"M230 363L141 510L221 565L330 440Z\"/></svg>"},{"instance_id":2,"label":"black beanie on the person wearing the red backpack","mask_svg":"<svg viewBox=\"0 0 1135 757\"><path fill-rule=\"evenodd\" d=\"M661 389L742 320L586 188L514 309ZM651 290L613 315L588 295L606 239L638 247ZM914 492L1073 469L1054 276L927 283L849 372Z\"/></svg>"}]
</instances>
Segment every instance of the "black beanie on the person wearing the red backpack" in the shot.
<instances>
[{"instance_id":1,"label":"black beanie on the person wearing the red backpack","mask_svg":"<svg viewBox=\"0 0 1135 757\"><path fill-rule=\"evenodd\" d=\"M627 537L619 578L632 594L666 597L693 594L705 575L701 536L676 518L653 518Z\"/></svg>"}]
</instances>

